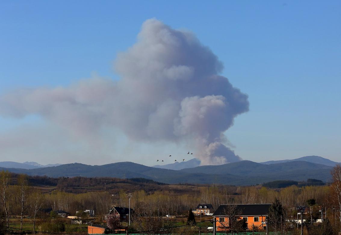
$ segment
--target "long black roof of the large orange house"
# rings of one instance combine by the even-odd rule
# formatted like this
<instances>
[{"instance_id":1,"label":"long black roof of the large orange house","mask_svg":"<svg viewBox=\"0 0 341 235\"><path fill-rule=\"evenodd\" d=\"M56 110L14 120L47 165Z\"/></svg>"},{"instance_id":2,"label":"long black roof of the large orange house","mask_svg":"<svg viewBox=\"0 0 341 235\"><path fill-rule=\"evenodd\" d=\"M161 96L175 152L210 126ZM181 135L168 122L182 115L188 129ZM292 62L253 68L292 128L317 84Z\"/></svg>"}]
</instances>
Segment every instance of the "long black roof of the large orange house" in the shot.
<instances>
[{"instance_id":1,"label":"long black roof of the large orange house","mask_svg":"<svg viewBox=\"0 0 341 235\"><path fill-rule=\"evenodd\" d=\"M237 204L236 211L238 216L267 216L271 204ZM228 206L220 205L212 216L225 216Z\"/></svg>"}]
</instances>

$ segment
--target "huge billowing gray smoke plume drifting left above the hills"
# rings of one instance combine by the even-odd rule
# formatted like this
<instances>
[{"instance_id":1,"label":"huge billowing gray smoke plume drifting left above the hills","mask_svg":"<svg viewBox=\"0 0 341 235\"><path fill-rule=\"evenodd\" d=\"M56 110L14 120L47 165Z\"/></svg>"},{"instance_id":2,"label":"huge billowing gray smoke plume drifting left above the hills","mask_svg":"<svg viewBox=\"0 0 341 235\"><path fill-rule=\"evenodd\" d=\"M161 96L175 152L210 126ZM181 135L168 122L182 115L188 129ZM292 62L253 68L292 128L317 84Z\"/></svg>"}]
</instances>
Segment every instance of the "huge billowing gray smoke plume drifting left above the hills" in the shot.
<instances>
[{"instance_id":1,"label":"huge billowing gray smoke plume drifting left above the hills","mask_svg":"<svg viewBox=\"0 0 341 235\"><path fill-rule=\"evenodd\" d=\"M79 136L117 127L137 141L185 142L202 164L240 160L223 132L248 111L248 96L219 75L222 63L195 35L146 20L114 67L117 82L91 78L4 94L0 114L38 114Z\"/></svg>"}]
</instances>

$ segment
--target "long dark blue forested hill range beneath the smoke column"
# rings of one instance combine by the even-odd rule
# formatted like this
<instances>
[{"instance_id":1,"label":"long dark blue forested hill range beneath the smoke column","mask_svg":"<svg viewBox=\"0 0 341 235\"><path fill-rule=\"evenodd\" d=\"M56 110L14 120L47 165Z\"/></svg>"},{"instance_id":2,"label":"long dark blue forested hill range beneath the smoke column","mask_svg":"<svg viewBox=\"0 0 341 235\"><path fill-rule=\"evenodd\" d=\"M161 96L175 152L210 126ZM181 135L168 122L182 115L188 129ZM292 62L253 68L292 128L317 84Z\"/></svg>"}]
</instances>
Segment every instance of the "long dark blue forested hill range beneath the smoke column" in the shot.
<instances>
[{"instance_id":1,"label":"long dark blue forested hill range beneath the smoke column","mask_svg":"<svg viewBox=\"0 0 341 235\"><path fill-rule=\"evenodd\" d=\"M319 179L324 182L330 181L332 166L313 162L321 160L323 160L321 157L315 158L315 156L311 158L308 156L305 158L305 161L287 161L267 164L245 160L223 165L182 168L181 170L150 167L133 162L118 162L94 166L71 163L54 167L39 167L33 169L0 168L0 170L28 175L46 175L49 177L137 177L153 179L164 183L256 185L273 180L304 181L308 178ZM194 164L197 160L192 159L190 161L190 164ZM175 165L181 164L185 163Z\"/></svg>"}]
</instances>

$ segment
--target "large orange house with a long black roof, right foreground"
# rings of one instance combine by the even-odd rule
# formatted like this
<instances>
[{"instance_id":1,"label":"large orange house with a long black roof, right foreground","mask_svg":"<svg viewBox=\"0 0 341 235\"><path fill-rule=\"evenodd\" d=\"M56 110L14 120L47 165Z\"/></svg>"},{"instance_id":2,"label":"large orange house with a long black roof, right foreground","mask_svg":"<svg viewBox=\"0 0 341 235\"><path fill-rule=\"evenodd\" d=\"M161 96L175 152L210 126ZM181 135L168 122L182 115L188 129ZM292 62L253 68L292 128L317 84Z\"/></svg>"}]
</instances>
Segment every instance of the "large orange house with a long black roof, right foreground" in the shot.
<instances>
[{"instance_id":1,"label":"large orange house with a long black roof, right foreground","mask_svg":"<svg viewBox=\"0 0 341 235\"><path fill-rule=\"evenodd\" d=\"M266 229L266 217L269 214L271 204L237 204L220 205L213 213L216 218L216 231L227 231L231 226L229 216L233 214L237 220L244 219L248 229Z\"/></svg>"}]
</instances>

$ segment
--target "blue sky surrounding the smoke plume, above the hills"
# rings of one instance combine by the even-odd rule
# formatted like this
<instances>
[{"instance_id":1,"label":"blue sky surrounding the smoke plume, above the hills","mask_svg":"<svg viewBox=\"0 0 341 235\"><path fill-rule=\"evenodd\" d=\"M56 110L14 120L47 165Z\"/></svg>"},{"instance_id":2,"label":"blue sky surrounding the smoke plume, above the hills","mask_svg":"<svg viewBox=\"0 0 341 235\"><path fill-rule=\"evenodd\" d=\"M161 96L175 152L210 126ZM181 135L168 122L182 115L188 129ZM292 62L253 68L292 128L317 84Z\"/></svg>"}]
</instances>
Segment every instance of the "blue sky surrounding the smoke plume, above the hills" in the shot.
<instances>
[{"instance_id":1,"label":"blue sky surrounding the smoke plume, above the hills","mask_svg":"<svg viewBox=\"0 0 341 235\"><path fill-rule=\"evenodd\" d=\"M250 111L225 133L242 159L318 155L340 162L340 10L340 1L2 1L0 95L65 87L92 74L120 79L113 69L117 53L136 42L145 20L157 18L193 32L223 62L222 75L249 95ZM0 141L44 125L38 115L0 117ZM118 132L108 136L116 144L103 164L128 157L153 165L155 154L187 151L132 142ZM47 147L46 157L32 149L26 156L23 147L0 152L0 160L100 164L81 158L83 145L61 145L69 151L60 159L49 158Z\"/></svg>"}]
</instances>

